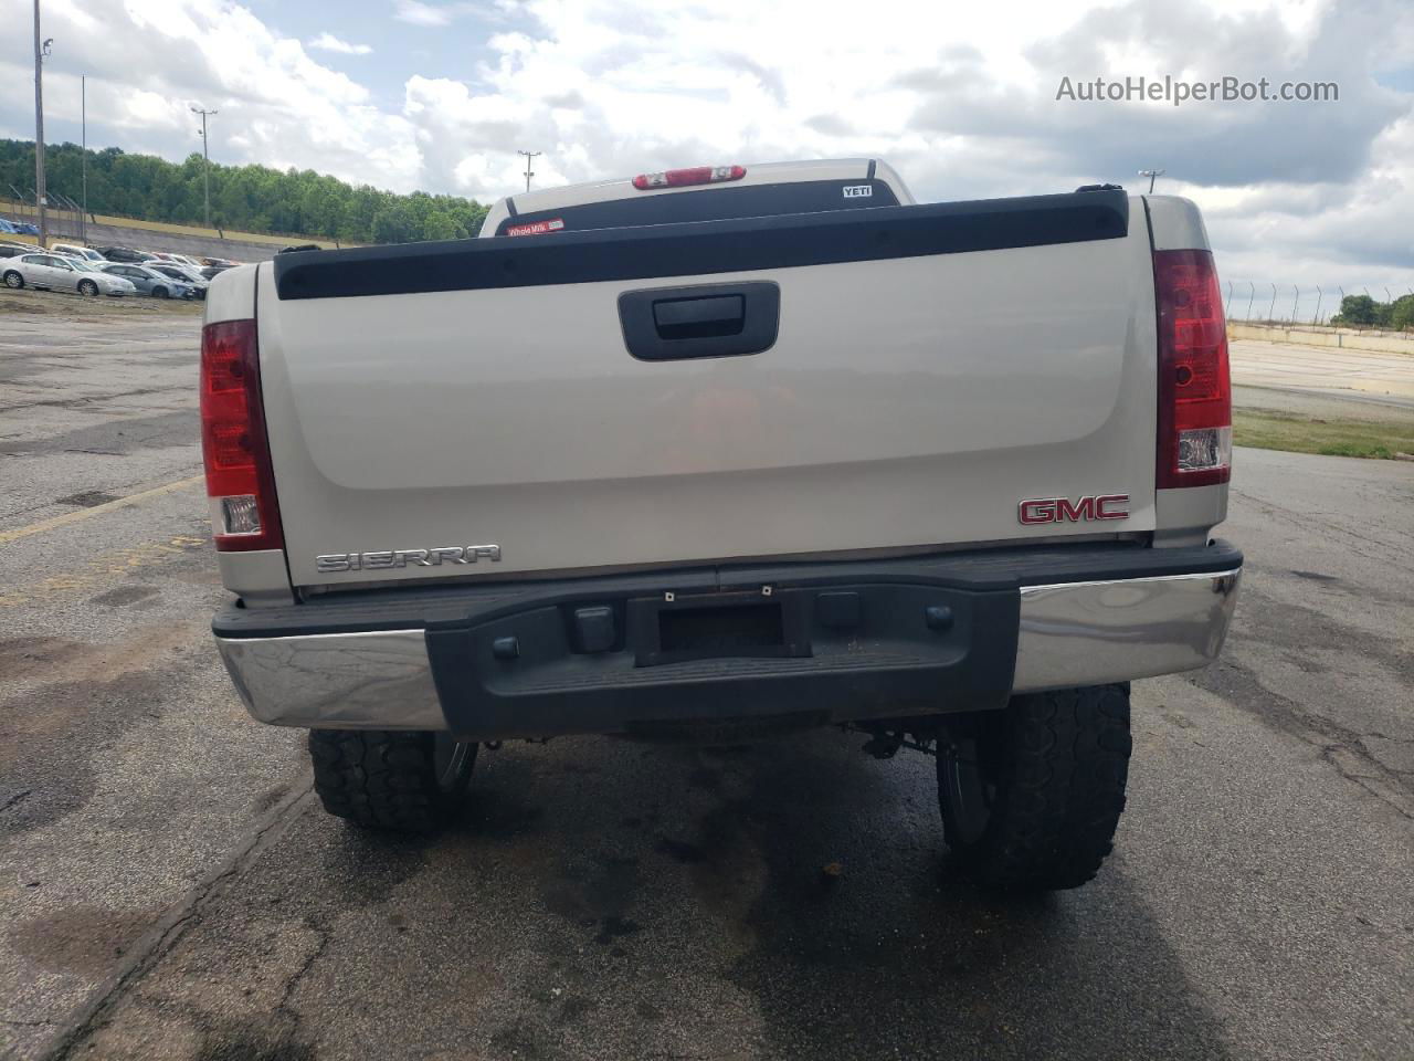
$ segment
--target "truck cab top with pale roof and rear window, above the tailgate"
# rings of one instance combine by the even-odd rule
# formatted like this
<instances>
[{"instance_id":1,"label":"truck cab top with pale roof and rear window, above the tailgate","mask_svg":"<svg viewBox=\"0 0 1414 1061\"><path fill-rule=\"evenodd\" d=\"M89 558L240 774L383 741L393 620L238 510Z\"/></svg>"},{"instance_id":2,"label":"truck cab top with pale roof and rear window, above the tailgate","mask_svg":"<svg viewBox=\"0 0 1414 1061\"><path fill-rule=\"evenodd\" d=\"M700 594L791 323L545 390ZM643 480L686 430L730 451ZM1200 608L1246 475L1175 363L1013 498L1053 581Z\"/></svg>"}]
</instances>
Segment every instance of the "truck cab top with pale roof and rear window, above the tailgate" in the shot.
<instances>
[{"instance_id":1,"label":"truck cab top with pale roof and rear window, above the tailgate","mask_svg":"<svg viewBox=\"0 0 1414 1061\"><path fill-rule=\"evenodd\" d=\"M481 235L529 236L913 204L902 178L875 158L822 158L717 170L718 174L725 171L731 175L676 187L653 187L643 178L622 177L512 195L488 211ZM680 173L684 171L667 171Z\"/></svg>"}]
</instances>

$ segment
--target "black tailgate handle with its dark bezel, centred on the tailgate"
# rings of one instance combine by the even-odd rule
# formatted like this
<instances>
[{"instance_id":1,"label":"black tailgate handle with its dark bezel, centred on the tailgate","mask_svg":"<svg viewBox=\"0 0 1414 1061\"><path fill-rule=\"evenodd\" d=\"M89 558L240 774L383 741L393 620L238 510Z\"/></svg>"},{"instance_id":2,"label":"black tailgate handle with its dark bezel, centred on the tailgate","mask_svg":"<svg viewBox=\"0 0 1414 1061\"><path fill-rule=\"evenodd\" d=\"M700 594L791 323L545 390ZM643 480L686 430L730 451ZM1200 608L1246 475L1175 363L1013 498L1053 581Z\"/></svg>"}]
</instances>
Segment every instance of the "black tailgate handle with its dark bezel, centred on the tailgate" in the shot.
<instances>
[{"instance_id":1,"label":"black tailgate handle with its dark bezel, centred on the tailgate","mask_svg":"<svg viewBox=\"0 0 1414 1061\"><path fill-rule=\"evenodd\" d=\"M701 284L619 296L624 345L639 361L759 354L776 341L781 289L773 283Z\"/></svg>"}]
</instances>

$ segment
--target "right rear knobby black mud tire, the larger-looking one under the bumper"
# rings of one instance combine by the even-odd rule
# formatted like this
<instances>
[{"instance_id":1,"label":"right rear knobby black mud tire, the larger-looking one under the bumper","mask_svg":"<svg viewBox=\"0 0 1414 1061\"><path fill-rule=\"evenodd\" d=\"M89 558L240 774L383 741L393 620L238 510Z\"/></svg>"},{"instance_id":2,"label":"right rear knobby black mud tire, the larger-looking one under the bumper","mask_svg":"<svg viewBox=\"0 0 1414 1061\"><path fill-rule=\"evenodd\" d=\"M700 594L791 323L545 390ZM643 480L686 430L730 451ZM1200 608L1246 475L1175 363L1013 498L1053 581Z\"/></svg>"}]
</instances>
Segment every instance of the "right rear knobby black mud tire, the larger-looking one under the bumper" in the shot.
<instances>
[{"instance_id":1,"label":"right rear knobby black mud tire, the larger-looking one under the bumper","mask_svg":"<svg viewBox=\"0 0 1414 1061\"><path fill-rule=\"evenodd\" d=\"M1114 849L1131 747L1128 685L1017 696L959 720L937 748L953 866L998 891L1092 880Z\"/></svg>"}]
</instances>

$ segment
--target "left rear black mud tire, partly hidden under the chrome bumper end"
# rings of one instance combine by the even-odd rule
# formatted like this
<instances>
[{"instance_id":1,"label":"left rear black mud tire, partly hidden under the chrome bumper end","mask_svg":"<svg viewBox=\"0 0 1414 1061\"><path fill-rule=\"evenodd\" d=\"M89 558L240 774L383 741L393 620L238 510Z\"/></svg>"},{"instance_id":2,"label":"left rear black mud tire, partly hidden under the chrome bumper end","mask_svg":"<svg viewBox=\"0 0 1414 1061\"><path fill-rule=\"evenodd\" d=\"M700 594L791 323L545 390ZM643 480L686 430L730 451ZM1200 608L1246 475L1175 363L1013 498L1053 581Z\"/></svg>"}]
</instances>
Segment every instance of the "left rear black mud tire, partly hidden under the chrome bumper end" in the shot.
<instances>
[{"instance_id":1,"label":"left rear black mud tire, partly hidden under the chrome bumper end","mask_svg":"<svg viewBox=\"0 0 1414 1061\"><path fill-rule=\"evenodd\" d=\"M430 833L461 809L477 744L445 733L311 730L324 809L365 829Z\"/></svg>"}]
</instances>

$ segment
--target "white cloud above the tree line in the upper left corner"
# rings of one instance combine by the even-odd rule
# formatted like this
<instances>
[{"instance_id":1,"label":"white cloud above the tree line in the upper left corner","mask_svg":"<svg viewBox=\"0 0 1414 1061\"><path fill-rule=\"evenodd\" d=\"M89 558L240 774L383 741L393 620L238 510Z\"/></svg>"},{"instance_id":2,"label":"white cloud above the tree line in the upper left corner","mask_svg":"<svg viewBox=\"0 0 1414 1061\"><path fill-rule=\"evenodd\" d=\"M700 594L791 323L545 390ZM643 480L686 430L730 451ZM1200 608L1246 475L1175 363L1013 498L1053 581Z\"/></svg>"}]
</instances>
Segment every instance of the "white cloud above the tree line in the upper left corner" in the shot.
<instances>
[{"instance_id":1,"label":"white cloud above the tree line in the upper left corner","mask_svg":"<svg viewBox=\"0 0 1414 1061\"><path fill-rule=\"evenodd\" d=\"M0 0L0 24L28 11ZM45 68L45 113L78 123L79 74L88 76L89 143L103 130L126 151L182 158L201 143L188 108L211 120L214 161L312 168L344 180L411 191L420 180L414 129L372 103L369 89L324 66L230 0L146 0L93 6L45 0L44 33L62 42ZM25 62L0 57L0 78L27 83ZM25 136L23 99L0 100L8 134Z\"/></svg>"}]
</instances>

